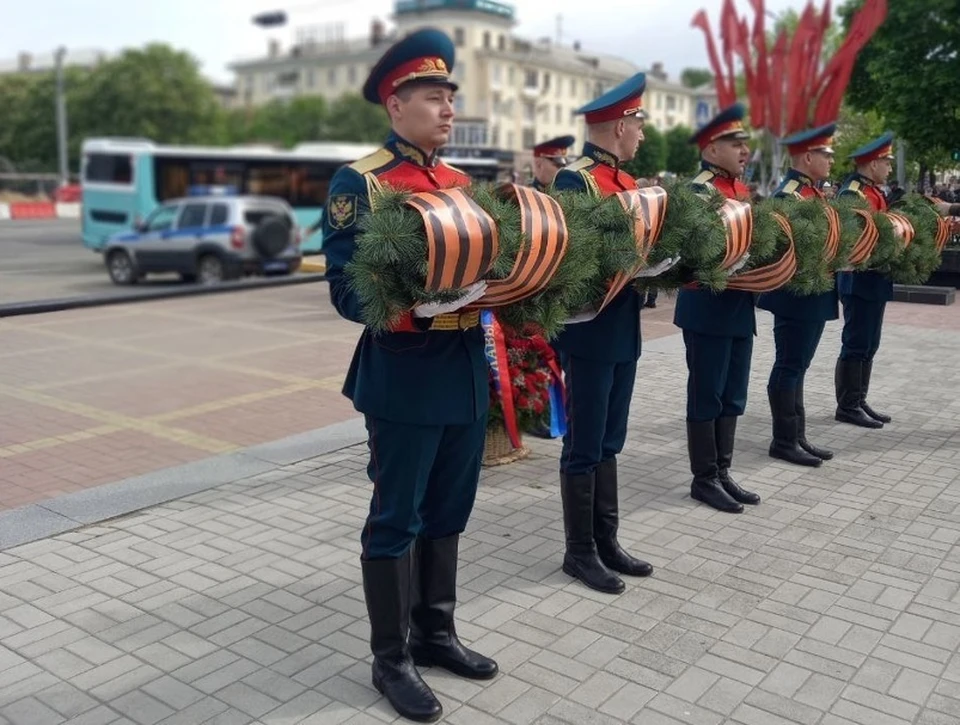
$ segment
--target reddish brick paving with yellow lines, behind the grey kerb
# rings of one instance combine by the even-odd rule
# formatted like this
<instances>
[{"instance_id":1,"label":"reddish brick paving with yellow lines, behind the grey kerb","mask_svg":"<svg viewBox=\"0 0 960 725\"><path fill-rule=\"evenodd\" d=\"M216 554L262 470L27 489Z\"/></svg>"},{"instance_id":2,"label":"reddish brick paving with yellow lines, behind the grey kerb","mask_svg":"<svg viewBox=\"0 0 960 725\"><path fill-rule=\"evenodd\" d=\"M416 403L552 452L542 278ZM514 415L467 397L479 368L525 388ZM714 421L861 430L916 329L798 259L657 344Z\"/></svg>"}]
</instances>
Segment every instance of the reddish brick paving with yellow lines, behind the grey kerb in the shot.
<instances>
[{"instance_id":1,"label":"reddish brick paving with yellow lines, behind the grey kerb","mask_svg":"<svg viewBox=\"0 0 960 725\"><path fill-rule=\"evenodd\" d=\"M0 511L353 418L359 333L322 283L0 319Z\"/></svg>"}]
</instances>

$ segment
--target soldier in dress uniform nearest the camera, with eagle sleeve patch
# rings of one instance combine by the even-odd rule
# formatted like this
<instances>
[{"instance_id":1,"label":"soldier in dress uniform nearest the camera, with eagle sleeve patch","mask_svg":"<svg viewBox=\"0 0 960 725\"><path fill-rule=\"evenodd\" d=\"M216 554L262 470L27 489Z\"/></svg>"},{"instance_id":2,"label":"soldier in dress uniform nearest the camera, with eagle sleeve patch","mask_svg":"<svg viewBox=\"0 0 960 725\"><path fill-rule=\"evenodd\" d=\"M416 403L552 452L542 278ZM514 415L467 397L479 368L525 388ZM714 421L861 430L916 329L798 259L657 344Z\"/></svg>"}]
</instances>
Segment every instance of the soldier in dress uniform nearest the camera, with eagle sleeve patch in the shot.
<instances>
[{"instance_id":1,"label":"soldier in dress uniform nearest the camera, with eagle sleeve patch","mask_svg":"<svg viewBox=\"0 0 960 725\"><path fill-rule=\"evenodd\" d=\"M437 157L453 121L453 63L450 38L421 29L389 48L364 84L364 98L386 108L393 130L383 148L334 175L323 227L330 298L354 322L362 310L344 267L372 194L470 183ZM389 332L365 327L344 383L370 448L361 568L373 684L397 712L423 722L442 708L414 665L475 679L497 673L454 626L458 540L477 491L488 408L483 330L478 313L462 308L485 288L414 307Z\"/></svg>"}]
</instances>

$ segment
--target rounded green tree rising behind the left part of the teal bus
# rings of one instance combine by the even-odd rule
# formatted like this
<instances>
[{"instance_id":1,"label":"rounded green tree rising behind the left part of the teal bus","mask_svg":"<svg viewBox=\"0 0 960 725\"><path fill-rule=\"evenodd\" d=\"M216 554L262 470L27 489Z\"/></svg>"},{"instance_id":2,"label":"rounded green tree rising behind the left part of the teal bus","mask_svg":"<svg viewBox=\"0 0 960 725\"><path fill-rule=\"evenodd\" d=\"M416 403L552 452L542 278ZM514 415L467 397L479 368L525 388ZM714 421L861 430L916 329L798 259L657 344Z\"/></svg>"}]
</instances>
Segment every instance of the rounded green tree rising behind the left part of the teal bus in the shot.
<instances>
[{"instance_id":1,"label":"rounded green tree rising behind the left part of the teal bus","mask_svg":"<svg viewBox=\"0 0 960 725\"><path fill-rule=\"evenodd\" d=\"M78 136L141 136L212 143L220 108L189 54L154 43L103 63L79 89L70 124Z\"/></svg>"}]
</instances>

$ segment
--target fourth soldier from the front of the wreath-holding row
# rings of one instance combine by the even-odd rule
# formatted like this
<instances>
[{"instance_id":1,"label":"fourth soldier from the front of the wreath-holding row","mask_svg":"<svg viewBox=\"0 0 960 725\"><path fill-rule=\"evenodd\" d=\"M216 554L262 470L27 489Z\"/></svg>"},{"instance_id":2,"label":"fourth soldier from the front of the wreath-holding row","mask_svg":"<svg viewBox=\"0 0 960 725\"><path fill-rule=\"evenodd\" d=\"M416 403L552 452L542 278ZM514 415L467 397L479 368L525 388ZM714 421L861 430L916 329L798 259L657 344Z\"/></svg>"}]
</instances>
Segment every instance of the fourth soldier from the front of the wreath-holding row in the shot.
<instances>
[{"instance_id":1,"label":"fourth soldier from the front of the wreath-holding row","mask_svg":"<svg viewBox=\"0 0 960 725\"><path fill-rule=\"evenodd\" d=\"M833 167L833 134L836 124L801 131L781 141L792 166L773 193L786 199L824 199L817 184ZM812 445L806 436L803 381L820 344L827 320L839 317L836 288L819 295L795 295L780 289L760 295L757 307L773 313L776 360L767 396L773 415L770 455L800 466L819 466L833 453Z\"/></svg>"}]
</instances>

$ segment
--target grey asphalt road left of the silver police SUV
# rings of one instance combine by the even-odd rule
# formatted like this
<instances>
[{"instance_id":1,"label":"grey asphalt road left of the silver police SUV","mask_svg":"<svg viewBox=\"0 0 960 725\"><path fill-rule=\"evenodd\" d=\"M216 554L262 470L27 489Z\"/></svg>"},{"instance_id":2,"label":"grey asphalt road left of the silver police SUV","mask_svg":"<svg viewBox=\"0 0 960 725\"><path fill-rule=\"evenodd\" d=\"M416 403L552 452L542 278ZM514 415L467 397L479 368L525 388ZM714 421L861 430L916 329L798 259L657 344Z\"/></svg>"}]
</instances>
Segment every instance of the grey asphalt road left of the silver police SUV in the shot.
<instances>
[{"instance_id":1,"label":"grey asphalt road left of the silver police SUV","mask_svg":"<svg viewBox=\"0 0 960 725\"><path fill-rule=\"evenodd\" d=\"M143 286L179 283L157 277ZM83 246L79 220L0 222L0 304L130 291L113 284L103 257Z\"/></svg>"}]
</instances>

